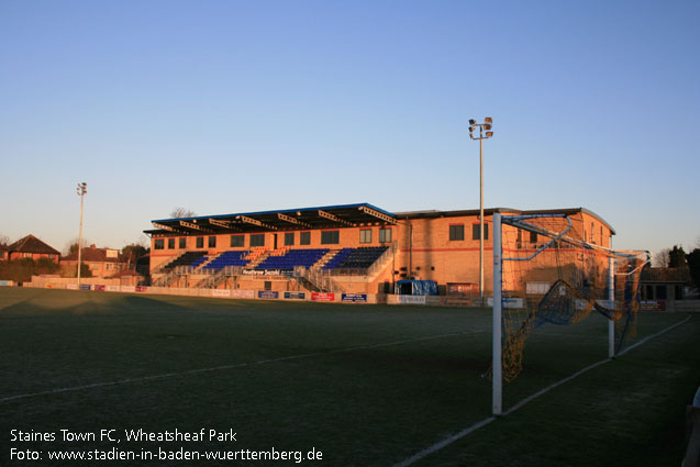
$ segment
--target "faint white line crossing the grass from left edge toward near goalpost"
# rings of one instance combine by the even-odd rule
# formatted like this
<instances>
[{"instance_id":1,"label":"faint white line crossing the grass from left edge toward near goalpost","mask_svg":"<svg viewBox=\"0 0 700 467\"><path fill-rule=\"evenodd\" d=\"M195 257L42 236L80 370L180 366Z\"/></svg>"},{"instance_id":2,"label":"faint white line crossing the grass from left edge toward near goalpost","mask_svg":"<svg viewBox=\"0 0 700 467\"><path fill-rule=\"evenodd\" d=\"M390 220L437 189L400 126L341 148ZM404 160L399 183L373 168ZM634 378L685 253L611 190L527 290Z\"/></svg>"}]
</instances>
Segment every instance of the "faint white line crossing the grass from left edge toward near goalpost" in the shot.
<instances>
[{"instance_id":1,"label":"faint white line crossing the grass from left edge toward near goalpost","mask_svg":"<svg viewBox=\"0 0 700 467\"><path fill-rule=\"evenodd\" d=\"M197 375L197 374L200 374L200 373L208 373L208 371L220 371L220 370L226 370L226 369L244 368L244 367L249 367L249 366L274 364L274 363L285 362L285 360L295 360L295 359L300 359L300 358L318 357L318 356L322 356L322 355L341 354L341 353L344 353L344 352L362 351L364 348L389 347L389 346L392 346L392 345L410 344L410 343L413 343L413 342L431 341L431 340L451 337L451 336L456 336L456 335L478 334L478 333L481 333L481 332L484 332L484 331L481 331L481 330L463 331L463 332L455 332L455 333L448 333L448 334L432 335L432 336L426 336L426 337L418 337L418 338L409 338L409 340L403 340L403 341L387 342L387 343L380 343L380 344L356 345L356 346L353 346L353 347L336 348L335 351L329 351L329 352L313 352L313 353L310 353L310 354L290 355L290 356L287 356L287 357L269 358L269 359L257 360L257 362L245 362L245 363L242 363L242 364L234 364L234 365L221 365L221 366L216 366L216 367L197 368L197 369L190 369L190 370L186 370L186 371L164 373L164 374L160 374L160 375L141 376L141 377L137 377L137 378L125 378L125 379L120 379L120 380L116 380L116 381L95 382L95 383L91 383L91 385L73 386L73 387L69 387L69 388L58 388L58 389L51 389L48 391L30 392L30 393L26 393L26 394L10 396L10 397L5 397L5 398L0 398L0 403L10 402L10 401L19 400L19 399L33 398L33 397L38 397L38 396L56 394L56 393L60 393L60 392L80 391L80 390L84 390L84 389L104 388L104 387L109 387L109 386L126 385L126 383L130 383L130 382L152 381L152 380L156 380L156 379L174 378L174 377L177 377L177 376L188 376L188 375Z\"/></svg>"}]
</instances>

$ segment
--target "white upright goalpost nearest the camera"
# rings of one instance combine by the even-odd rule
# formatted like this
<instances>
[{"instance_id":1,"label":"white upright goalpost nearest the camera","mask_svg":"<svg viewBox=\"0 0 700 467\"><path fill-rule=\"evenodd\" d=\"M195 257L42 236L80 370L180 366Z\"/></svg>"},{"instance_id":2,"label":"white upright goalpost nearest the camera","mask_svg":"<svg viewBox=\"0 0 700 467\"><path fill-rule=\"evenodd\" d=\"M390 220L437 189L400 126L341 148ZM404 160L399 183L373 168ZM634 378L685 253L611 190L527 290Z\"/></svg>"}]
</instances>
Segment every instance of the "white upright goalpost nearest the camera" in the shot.
<instances>
[{"instance_id":1,"label":"white upright goalpost nearest the camera","mask_svg":"<svg viewBox=\"0 0 700 467\"><path fill-rule=\"evenodd\" d=\"M492 413L503 411L503 359L502 359L502 273L503 247L501 245L501 214L493 213L493 342L492 342Z\"/></svg>"}]
</instances>

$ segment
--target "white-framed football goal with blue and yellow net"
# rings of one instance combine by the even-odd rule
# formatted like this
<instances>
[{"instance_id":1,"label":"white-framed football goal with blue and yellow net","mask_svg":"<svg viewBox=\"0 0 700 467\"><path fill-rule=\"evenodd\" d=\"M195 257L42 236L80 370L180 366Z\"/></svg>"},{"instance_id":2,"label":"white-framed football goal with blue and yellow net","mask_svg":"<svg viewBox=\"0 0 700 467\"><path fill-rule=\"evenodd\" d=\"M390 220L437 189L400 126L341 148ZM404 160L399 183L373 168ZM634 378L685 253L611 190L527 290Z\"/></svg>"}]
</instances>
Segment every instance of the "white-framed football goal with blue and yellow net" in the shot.
<instances>
[{"instance_id":1,"label":"white-framed football goal with blue and yellow net","mask_svg":"<svg viewBox=\"0 0 700 467\"><path fill-rule=\"evenodd\" d=\"M593 243L584 223L580 214L556 212L493 215L495 414L502 410L502 381L522 371L534 329L600 313L609 320L609 357L635 333L640 277L651 255Z\"/></svg>"}]
</instances>

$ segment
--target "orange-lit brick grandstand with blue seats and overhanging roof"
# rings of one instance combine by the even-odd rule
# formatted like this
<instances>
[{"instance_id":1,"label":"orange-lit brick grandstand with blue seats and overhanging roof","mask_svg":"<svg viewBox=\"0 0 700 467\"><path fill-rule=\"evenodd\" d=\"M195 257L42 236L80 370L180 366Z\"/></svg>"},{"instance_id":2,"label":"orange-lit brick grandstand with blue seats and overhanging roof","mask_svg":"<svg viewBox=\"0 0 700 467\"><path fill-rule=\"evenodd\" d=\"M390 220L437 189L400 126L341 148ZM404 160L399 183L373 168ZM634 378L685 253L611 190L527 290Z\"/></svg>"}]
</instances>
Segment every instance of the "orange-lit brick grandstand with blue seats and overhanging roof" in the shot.
<instances>
[{"instance_id":1,"label":"orange-lit brick grandstand with blue seats and overhanging roof","mask_svg":"<svg viewBox=\"0 0 700 467\"><path fill-rule=\"evenodd\" d=\"M485 283L492 288L492 216L485 211ZM584 209L563 209L578 235L609 247L614 230ZM267 291L392 293L399 280L437 282L440 294L479 282L478 210L391 213L368 203L152 221L154 285ZM536 234L518 240L523 252ZM215 278L212 278L215 276Z\"/></svg>"}]
</instances>

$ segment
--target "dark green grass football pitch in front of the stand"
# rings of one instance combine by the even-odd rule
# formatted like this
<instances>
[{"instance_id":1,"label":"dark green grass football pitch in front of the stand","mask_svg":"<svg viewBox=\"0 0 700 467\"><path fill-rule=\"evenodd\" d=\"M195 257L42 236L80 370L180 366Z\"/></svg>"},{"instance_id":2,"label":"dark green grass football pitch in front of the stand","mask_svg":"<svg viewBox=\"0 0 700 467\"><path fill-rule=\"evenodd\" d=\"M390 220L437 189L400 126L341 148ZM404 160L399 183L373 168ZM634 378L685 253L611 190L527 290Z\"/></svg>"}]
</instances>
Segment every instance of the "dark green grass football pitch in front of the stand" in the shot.
<instances>
[{"instance_id":1,"label":"dark green grass football pitch in front of the stand","mask_svg":"<svg viewBox=\"0 0 700 467\"><path fill-rule=\"evenodd\" d=\"M638 337L686 318L645 313ZM11 462L12 447L113 447L10 442L11 430L205 427L233 429L237 441L185 443L186 449L305 455L315 447L323 460L302 464L391 466L490 415L491 383L481 378L490 325L490 311L476 309L3 288L0 465L92 465ZM523 374L504 388L505 408L604 359L605 330L600 318L537 330ZM685 405L700 382L699 337L696 315L416 465L679 465ZM181 444L118 447L158 445Z\"/></svg>"}]
</instances>

